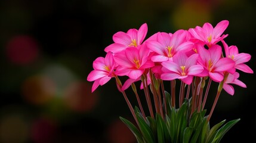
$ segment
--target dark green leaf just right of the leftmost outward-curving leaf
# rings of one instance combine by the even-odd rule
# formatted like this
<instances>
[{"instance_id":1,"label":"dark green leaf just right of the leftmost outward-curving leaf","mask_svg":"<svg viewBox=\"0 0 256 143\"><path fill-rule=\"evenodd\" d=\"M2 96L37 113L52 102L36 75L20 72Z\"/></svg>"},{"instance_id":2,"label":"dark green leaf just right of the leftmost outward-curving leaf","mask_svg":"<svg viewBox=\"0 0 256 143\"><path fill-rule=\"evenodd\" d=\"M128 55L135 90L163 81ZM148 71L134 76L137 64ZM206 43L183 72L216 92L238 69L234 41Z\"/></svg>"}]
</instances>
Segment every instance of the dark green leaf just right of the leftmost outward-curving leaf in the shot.
<instances>
[{"instance_id":1,"label":"dark green leaf just right of the leftmost outward-curving leaf","mask_svg":"<svg viewBox=\"0 0 256 143\"><path fill-rule=\"evenodd\" d=\"M153 143L155 142L155 138L153 135L152 130L150 129L149 125L145 122L142 116L139 113L136 113L136 117L138 120L138 126L140 127L141 134L146 142Z\"/></svg>"}]
</instances>

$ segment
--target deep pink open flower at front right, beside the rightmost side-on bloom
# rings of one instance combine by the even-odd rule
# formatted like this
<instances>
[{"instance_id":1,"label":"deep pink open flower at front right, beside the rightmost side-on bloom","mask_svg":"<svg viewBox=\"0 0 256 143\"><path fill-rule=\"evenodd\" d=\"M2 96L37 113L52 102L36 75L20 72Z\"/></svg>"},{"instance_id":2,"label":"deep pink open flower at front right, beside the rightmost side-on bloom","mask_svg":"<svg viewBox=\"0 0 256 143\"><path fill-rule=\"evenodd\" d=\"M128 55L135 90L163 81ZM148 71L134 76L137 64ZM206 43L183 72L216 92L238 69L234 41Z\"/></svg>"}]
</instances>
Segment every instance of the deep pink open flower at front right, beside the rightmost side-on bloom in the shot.
<instances>
[{"instance_id":1,"label":"deep pink open flower at front right, beside the rightmost side-on bloom","mask_svg":"<svg viewBox=\"0 0 256 143\"><path fill-rule=\"evenodd\" d=\"M201 44L196 44L200 56L198 63L204 67L204 71L199 76L209 76L215 82L221 82L224 78L224 71L232 71L235 62L230 58L221 58L221 46L214 45L208 50ZM235 72L235 71L234 71Z\"/></svg>"}]
</instances>

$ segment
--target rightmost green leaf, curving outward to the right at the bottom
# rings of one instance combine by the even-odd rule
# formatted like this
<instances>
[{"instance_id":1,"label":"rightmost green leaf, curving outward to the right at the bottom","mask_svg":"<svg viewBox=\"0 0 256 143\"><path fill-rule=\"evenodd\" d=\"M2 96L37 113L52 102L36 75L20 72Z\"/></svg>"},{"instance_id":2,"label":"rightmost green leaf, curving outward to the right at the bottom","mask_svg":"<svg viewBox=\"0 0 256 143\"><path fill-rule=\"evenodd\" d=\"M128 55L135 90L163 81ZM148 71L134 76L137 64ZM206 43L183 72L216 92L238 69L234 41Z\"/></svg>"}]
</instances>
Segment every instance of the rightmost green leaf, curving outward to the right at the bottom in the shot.
<instances>
[{"instance_id":1,"label":"rightmost green leaf, curving outward to the right at the bottom","mask_svg":"<svg viewBox=\"0 0 256 143\"><path fill-rule=\"evenodd\" d=\"M214 140L212 142L220 142L221 138L223 138L225 133L227 133L227 131L229 131L229 129L232 128L232 126L238 123L239 120L240 119L232 120L230 122L227 122L224 126L222 126L214 136Z\"/></svg>"}]
</instances>

